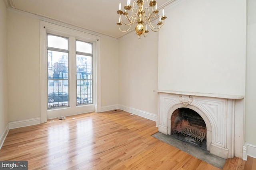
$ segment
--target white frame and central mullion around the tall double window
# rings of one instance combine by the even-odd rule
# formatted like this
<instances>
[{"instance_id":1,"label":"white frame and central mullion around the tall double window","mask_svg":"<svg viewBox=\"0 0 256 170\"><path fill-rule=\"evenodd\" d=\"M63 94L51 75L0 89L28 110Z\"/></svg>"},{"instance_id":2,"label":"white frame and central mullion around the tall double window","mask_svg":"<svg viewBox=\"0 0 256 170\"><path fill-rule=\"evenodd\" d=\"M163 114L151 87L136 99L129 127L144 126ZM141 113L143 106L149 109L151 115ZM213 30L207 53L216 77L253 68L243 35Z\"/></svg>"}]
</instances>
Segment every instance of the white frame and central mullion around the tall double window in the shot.
<instances>
[{"instance_id":1,"label":"white frame and central mullion around the tall double window","mask_svg":"<svg viewBox=\"0 0 256 170\"><path fill-rule=\"evenodd\" d=\"M41 123L47 122L47 119L56 118L58 116L68 116L75 115L80 113L88 113L92 111L100 112L101 111L101 87L100 87L100 37L96 35L91 35L83 31L78 31L76 29L68 28L53 23L48 23L45 21L39 21L40 27L40 119ZM53 35L60 35L63 37L69 37L70 41L75 41L77 39L82 41L87 41L93 44L93 72L94 72L94 81L93 81L93 104L89 105L78 105L76 106L76 93L75 95L70 96L70 106L63 107L58 109L48 110L48 68L47 68L47 33ZM72 46L72 43L69 43L69 46ZM76 49L74 47L69 47L69 49ZM72 59L72 55L74 59ZM70 51L69 54L69 76L70 84L69 88L76 89L76 51ZM95 81L96 80L96 81ZM76 92L76 90L75 90ZM73 96L73 97L72 97ZM60 113L58 111L60 110Z\"/></svg>"}]
</instances>

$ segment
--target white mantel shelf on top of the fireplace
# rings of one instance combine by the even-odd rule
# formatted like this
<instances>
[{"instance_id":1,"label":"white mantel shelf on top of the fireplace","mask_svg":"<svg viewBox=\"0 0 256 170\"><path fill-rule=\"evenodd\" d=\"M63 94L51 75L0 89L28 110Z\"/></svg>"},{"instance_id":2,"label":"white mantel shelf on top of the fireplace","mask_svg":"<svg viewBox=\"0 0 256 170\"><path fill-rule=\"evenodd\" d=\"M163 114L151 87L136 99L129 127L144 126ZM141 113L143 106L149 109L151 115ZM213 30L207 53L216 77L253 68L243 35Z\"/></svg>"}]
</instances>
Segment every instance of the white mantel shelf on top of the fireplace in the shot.
<instances>
[{"instance_id":1,"label":"white mantel shelf on top of the fireplace","mask_svg":"<svg viewBox=\"0 0 256 170\"><path fill-rule=\"evenodd\" d=\"M224 98L224 99L243 99L244 96L227 95L227 94L213 94L213 93L196 93L196 92L180 92L180 91L170 91L170 90L154 90L158 93L169 93L169 94L179 94L187 96L202 96L211 98Z\"/></svg>"}]
</instances>

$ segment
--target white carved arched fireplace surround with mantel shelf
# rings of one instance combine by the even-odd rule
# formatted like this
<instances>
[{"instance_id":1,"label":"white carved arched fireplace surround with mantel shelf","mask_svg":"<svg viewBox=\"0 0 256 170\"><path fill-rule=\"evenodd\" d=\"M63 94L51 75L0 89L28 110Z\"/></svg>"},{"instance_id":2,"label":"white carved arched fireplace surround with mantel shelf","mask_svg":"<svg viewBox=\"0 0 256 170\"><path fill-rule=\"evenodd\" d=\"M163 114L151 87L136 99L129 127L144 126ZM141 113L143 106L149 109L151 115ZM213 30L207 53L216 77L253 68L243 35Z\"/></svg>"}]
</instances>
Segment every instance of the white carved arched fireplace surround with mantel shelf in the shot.
<instances>
[{"instance_id":1,"label":"white carved arched fireplace surround with mantel shelf","mask_svg":"<svg viewBox=\"0 0 256 170\"><path fill-rule=\"evenodd\" d=\"M158 92L158 131L171 135L171 116L179 108L196 111L206 124L206 149L222 158L242 158L244 96L154 90Z\"/></svg>"}]
</instances>

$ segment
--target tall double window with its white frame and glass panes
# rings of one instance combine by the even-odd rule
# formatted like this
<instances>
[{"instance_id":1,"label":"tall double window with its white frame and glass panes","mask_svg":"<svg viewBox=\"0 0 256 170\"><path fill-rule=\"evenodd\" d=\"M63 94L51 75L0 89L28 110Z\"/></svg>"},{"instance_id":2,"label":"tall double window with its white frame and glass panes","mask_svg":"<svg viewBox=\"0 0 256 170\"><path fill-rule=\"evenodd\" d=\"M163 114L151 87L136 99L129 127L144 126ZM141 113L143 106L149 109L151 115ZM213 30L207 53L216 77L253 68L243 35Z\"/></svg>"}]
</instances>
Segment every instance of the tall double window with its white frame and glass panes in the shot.
<instances>
[{"instance_id":1,"label":"tall double window with its white frame and glass panes","mask_svg":"<svg viewBox=\"0 0 256 170\"><path fill-rule=\"evenodd\" d=\"M83 31L40 21L41 123L100 112L100 37Z\"/></svg>"}]
</instances>

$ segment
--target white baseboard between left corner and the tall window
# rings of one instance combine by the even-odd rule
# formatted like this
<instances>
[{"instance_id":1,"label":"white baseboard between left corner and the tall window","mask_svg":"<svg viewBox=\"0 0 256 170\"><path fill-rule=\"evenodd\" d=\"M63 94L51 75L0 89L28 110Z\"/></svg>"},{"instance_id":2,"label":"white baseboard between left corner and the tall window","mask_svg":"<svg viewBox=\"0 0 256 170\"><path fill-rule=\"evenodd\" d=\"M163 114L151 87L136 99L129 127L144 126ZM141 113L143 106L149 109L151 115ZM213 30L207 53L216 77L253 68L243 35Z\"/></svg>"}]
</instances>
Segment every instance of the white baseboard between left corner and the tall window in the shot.
<instances>
[{"instance_id":1,"label":"white baseboard between left corner and the tall window","mask_svg":"<svg viewBox=\"0 0 256 170\"><path fill-rule=\"evenodd\" d=\"M10 121L8 123L9 129L15 129L18 127L25 127L31 125L38 125L40 124L40 117L32 118L32 119L25 119L25 120L18 120L18 121Z\"/></svg>"}]
</instances>

